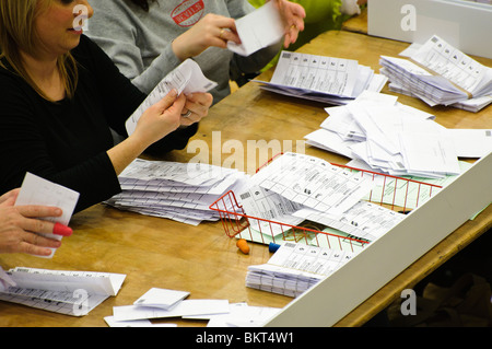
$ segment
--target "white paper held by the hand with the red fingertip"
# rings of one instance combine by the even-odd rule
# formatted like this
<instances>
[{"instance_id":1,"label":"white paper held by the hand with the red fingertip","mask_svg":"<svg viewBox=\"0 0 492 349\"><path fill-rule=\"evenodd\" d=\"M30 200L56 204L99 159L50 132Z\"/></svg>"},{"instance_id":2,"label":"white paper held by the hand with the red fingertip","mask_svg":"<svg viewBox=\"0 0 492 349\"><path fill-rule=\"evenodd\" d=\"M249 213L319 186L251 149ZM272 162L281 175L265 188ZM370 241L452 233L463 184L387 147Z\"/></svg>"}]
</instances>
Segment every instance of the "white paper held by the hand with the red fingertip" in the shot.
<instances>
[{"instance_id":1,"label":"white paper held by the hand with the red fingertip","mask_svg":"<svg viewBox=\"0 0 492 349\"><path fill-rule=\"evenodd\" d=\"M46 218L45 220L69 225L78 201L79 193L46 181L32 173L26 173L21 186L21 191L15 200L15 206L44 205L58 207L62 210L62 214L56 218ZM61 240L60 235L42 233L39 233L39 235ZM51 254L42 258L51 258L55 255L55 252L56 248L51 248Z\"/></svg>"}]
</instances>

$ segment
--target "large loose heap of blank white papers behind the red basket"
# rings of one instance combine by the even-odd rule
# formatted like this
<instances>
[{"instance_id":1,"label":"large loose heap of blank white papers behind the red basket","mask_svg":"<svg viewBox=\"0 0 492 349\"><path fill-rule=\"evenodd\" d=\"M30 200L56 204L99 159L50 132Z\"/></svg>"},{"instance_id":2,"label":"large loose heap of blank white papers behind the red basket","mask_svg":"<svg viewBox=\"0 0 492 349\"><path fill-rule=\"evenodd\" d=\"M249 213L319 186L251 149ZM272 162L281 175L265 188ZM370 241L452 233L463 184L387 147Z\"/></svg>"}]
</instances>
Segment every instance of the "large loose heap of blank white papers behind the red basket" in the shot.
<instances>
[{"instance_id":1,"label":"large loose heap of blank white papers behind the red basket","mask_svg":"<svg viewBox=\"0 0 492 349\"><path fill-rule=\"evenodd\" d=\"M458 158L481 158L492 150L491 130L446 129L396 96L366 92L326 112L320 129L305 136L309 144L395 176L458 175Z\"/></svg>"}]
</instances>

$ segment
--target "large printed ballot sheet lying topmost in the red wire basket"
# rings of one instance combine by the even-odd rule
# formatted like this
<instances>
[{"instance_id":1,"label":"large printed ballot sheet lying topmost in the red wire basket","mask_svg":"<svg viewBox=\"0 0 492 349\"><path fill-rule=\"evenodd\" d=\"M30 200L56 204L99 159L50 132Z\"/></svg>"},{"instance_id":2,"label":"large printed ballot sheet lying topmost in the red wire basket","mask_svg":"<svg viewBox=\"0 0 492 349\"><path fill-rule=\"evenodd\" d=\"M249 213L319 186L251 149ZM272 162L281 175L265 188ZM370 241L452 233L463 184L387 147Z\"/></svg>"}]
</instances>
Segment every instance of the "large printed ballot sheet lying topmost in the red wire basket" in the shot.
<instances>
[{"instance_id":1,"label":"large printed ballot sheet lying topmost in the red wire basket","mask_svg":"<svg viewBox=\"0 0 492 349\"><path fill-rule=\"evenodd\" d=\"M251 176L251 182L284 198L318 211L341 214L373 186L361 177L321 159L286 152Z\"/></svg>"}]
</instances>

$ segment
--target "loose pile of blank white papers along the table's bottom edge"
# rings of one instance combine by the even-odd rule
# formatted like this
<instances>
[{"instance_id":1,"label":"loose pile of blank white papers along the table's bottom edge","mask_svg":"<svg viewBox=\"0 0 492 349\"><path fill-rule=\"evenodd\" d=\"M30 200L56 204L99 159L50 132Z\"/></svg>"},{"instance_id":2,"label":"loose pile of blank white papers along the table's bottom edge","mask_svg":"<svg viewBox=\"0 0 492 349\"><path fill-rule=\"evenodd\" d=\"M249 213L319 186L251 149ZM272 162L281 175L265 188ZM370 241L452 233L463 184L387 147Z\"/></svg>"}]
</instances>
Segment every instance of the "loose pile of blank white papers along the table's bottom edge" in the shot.
<instances>
[{"instance_id":1,"label":"loose pile of blank white papers along the table's bottom edge","mask_svg":"<svg viewBox=\"0 0 492 349\"><path fill-rule=\"evenodd\" d=\"M180 317L209 321L208 327L259 326L280 309L231 304L227 300L186 300L190 293L152 288L132 305L114 306L104 319L110 327L176 326L151 319Z\"/></svg>"}]
</instances>

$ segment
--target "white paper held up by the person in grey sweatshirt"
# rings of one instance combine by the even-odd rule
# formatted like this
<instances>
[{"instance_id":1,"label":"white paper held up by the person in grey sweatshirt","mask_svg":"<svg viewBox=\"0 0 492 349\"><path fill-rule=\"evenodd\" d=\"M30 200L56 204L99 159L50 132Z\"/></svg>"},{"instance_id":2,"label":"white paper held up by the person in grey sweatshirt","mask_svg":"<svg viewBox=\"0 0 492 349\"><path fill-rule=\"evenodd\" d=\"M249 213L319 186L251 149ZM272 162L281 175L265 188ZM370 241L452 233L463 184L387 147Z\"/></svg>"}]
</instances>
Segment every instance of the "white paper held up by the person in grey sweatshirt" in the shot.
<instances>
[{"instance_id":1,"label":"white paper held up by the person in grey sweatshirt","mask_svg":"<svg viewBox=\"0 0 492 349\"><path fill-rule=\"evenodd\" d=\"M242 56L280 42L284 34L282 19L273 1L236 20L236 30L241 44L227 42L227 48Z\"/></svg>"}]
</instances>

